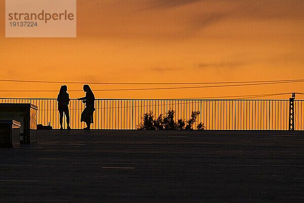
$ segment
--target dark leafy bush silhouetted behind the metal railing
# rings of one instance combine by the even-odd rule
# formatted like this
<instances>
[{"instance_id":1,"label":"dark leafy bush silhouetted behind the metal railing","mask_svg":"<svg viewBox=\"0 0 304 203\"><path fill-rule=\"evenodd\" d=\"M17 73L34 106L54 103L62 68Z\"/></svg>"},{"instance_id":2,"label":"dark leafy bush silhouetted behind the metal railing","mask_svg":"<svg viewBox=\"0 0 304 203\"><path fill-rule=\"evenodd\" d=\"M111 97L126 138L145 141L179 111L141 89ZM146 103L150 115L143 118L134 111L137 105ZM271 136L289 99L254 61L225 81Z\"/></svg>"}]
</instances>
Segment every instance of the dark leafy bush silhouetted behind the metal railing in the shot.
<instances>
[{"instance_id":1,"label":"dark leafy bush silhouetted behind the metal railing","mask_svg":"<svg viewBox=\"0 0 304 203\"><path fill-rule=\"evenodd\" d=\"M192 112L191 118L186 122L179 119L177 122L174 121L175 112L169 110L165 116L159 115L157 119L154 119L153 112L145 113L143 116L143 123L139 129L145 130L193 130L193 124L195 123L200 112ZM196 127L199 130L204 129L204 123L198 124Z\"/></svg>"}]
</instances>

